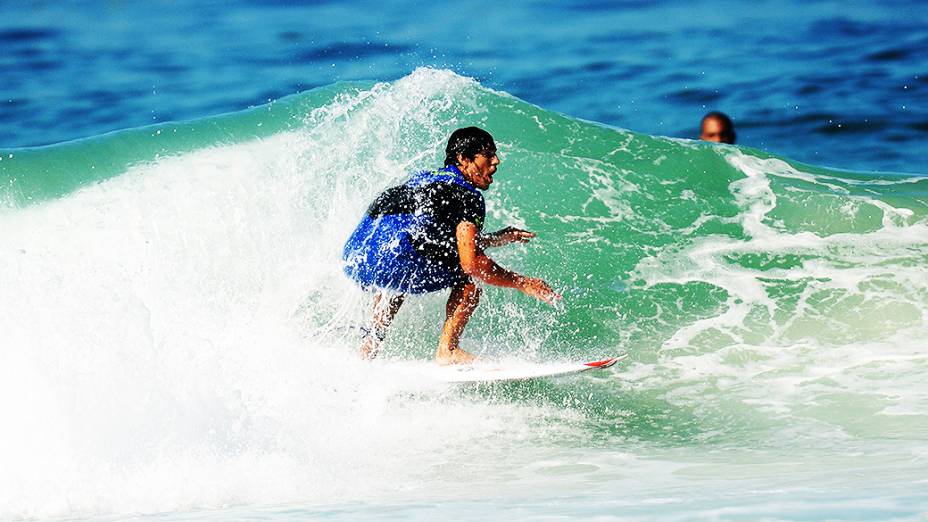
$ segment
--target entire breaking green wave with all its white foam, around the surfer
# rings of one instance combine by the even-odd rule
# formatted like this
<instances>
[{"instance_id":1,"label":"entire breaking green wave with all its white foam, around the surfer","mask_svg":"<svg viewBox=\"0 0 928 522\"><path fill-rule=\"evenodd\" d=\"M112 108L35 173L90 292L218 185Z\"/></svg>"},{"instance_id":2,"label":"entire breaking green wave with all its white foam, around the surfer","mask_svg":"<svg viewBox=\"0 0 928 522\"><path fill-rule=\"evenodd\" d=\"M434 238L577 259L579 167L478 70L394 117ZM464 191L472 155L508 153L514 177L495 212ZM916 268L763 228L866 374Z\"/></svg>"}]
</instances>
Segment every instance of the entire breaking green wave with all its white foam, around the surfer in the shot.
<instances>
[{"instance_id":1,"label":"entire breaking green wave with all its white foam, around the surfer","mask_svg":"<svg viewBox=\"0 0 928 522\"><path fill-rule=\"evenodd\" d=\"M538 233L495 257L564 301L487 288L465 347L614 371L417 379L438 294L356 357L342 245L467 125L487 228ZM0 518L928 516L928 178L432 69L2 156Z\"/></svg>"}]
</instances>

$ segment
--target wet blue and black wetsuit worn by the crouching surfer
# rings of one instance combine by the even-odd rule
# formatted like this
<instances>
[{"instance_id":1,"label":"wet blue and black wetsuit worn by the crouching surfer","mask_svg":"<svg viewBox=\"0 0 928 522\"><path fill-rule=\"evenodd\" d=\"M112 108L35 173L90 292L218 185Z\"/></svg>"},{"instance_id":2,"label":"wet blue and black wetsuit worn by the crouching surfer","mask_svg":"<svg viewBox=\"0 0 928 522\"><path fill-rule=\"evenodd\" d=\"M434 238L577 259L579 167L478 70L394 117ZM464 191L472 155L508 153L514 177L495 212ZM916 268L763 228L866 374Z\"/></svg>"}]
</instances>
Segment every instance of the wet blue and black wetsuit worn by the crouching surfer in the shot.
<instances>
[{"instance_id":1,"label":"wet blue and black wetsuit worn by the crouching surfer","mask_svg":"<svg viewBox=\"0 0 928 522\"><path fill-rule=\"evenodd\" d=\"M483 195L453 165L413 175L368 207L345 244L345 272L362 287L424 293L465 280L457 226L483 228Z\"/></svg>"}]
</instances>

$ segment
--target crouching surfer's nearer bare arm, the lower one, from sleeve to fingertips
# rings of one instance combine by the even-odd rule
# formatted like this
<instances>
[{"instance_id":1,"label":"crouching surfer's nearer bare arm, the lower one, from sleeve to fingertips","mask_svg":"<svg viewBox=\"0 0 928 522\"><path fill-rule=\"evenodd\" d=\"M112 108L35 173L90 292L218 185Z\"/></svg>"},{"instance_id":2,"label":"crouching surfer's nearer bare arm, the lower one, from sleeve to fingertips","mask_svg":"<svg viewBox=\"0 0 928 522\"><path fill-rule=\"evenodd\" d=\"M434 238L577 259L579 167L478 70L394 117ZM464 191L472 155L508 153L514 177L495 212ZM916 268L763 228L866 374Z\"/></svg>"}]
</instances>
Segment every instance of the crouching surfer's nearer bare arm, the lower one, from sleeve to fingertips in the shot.
<instances>
[{"instance_id":1,"label":"crouching surfer's nearer bare arm, the lower one, from sleeve to fingertips","mask_svg":"<svg viewBox=\"0 0 928 522\"><path fill-rule=\"evenodd\" d=\"M487 284L521 290L548 304L554 304L561 298L541 279L517 274L496 264L478 247L477 234L477 226L469 221L462 221L457 226L458 256L465 274Z\"/></svg>"}]
</instances>

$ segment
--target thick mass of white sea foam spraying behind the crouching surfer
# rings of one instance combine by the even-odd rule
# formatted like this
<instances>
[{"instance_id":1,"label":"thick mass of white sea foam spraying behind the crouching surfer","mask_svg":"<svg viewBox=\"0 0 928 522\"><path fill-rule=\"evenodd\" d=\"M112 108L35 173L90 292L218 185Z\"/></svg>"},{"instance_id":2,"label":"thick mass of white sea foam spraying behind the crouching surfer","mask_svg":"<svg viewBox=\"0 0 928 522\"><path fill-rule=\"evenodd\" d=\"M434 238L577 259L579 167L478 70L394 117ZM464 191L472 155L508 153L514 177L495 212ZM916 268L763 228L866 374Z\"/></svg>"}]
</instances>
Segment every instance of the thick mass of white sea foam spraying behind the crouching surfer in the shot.
<instances>
[{"instance_id":1,"label":"thick mass of white sea foam spraying behind the crouching surfer","mask_svg":"<svg viewBox=\"0 0 928 522\"><path fill-rule=\"evenodd\" d=\"M569 411L411 381L333 333L367 306L340 273L344 238L438 156L455 124L438 112L471 84L418 72L305 131L0 216L0 518L447 490L471 459L503 466L556 436L534 426Z\"/></svg>"}]
</instances>

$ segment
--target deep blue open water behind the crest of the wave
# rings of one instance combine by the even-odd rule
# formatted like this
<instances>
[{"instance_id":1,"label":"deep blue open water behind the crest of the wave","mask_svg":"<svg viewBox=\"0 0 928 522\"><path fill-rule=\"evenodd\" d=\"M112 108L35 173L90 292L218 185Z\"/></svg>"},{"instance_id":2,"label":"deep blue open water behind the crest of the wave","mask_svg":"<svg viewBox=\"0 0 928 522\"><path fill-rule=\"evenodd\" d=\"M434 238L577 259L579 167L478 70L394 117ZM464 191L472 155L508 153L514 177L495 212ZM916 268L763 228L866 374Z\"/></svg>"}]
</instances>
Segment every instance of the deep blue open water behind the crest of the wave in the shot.
<instances>
[{"instance_id":1,"label":"deep blue open water behind the crest of the wave","mask_svg":"<svg viewBox=\"0 0 928 522\"><path fill-rule=\"evenodd\" d=\"M926 173L928 9L892 2L0 4L0 146L241 110L417 66L589 120Z\"/></svg>"}]
</instances>

